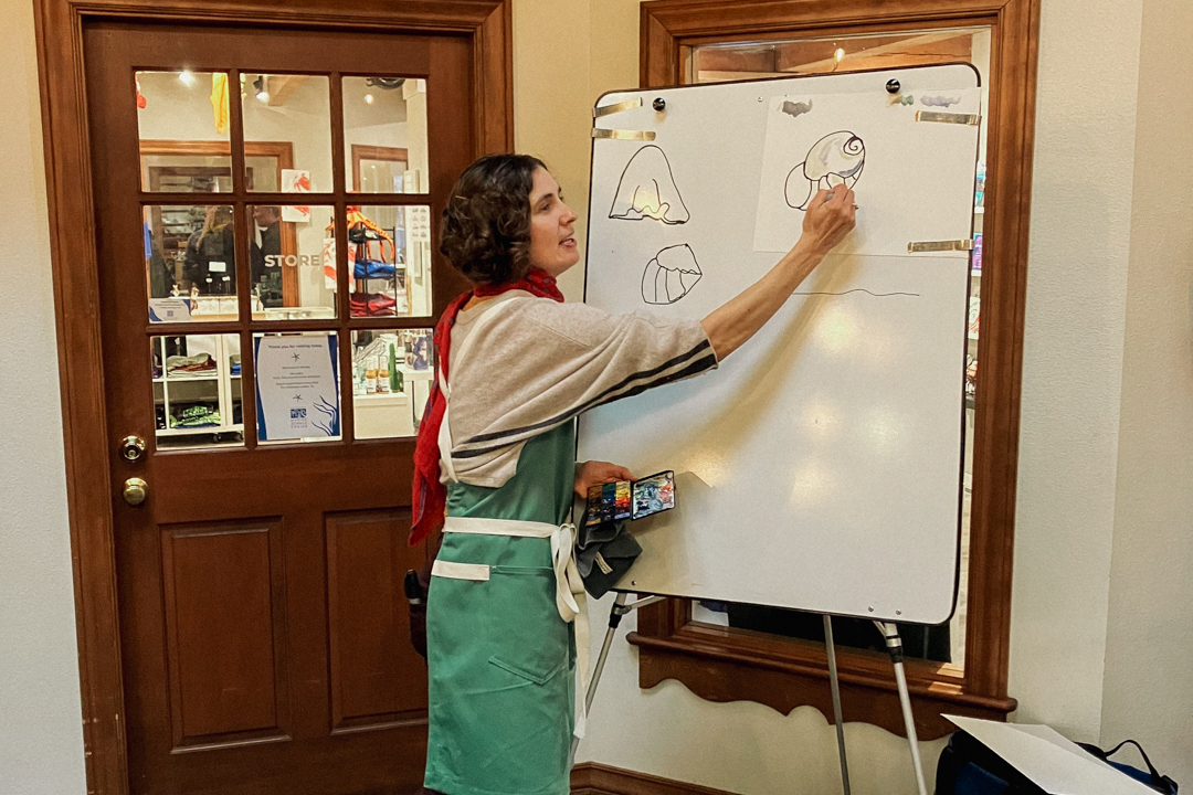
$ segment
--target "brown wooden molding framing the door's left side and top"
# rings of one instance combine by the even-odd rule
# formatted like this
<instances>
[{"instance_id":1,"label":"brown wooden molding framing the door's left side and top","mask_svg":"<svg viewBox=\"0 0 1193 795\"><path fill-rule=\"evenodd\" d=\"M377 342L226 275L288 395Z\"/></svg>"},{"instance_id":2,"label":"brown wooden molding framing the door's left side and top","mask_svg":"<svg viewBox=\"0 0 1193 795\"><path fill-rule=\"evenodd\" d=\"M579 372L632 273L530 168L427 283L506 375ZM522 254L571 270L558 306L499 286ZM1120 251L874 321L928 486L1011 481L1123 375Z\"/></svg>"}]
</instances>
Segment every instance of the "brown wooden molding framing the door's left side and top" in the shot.
<instances>
[{"instance_id":1,"label":"brown wooden molding framing the door's left side and top","mask_svg":"<svg viewBox=\"0 0 1193 795\"><path fill-rule=\"evenodd\" d=\"M220 24L472 39L477 156L513 148L512 0L35 0L50 265L87 790L129 791L116 601L112 442L104 412L99 267L84 64L93 21Z\"/></svg>"}]
</instances>

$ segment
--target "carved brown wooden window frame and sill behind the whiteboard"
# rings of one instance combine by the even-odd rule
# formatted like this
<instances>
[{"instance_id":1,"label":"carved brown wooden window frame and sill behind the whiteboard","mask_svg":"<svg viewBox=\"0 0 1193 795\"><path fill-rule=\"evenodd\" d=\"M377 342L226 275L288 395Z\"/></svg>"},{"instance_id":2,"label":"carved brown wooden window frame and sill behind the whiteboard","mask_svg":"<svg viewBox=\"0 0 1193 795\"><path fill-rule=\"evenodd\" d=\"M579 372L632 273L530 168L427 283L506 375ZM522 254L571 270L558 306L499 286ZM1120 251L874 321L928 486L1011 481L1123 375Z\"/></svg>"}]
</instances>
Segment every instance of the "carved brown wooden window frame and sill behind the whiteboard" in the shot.
<instances>
[{"instance_id":1,"label":"carved brown wooden window frame and sill behind the whiteboard","mask_svg":"<svg viewBox=\"0 0 1193 795\"><path fill-rule=\"evenodd\" d=\"M641 6L643 87L681 82L681 64L699 44L991 29L966 665L958 671L909 660L922 739L950 731L941 712L1005 718L1015 708L1007 695L1007 665L1039 13L1040 0L656 0ZM639 648L641 687L678 678L710 700L747 698L784 713L811 703L832 714L822 645L693 623L686 600L643 610L630 642ZM837 662L849 720L866 715L902 734L889 663L841 647Z\"/></svg>"}]
</instances>

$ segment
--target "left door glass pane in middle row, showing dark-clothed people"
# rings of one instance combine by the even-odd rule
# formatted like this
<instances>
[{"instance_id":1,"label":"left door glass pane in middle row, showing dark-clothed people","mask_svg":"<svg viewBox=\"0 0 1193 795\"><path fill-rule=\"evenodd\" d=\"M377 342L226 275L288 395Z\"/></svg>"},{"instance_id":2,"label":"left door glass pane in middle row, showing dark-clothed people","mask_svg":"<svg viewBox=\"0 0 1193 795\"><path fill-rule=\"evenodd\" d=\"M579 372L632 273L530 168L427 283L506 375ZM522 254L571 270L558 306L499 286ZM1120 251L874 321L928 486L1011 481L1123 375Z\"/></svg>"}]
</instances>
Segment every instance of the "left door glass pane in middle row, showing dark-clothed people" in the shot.
<instances>
[{"instance_id":1,"label":"left door glass pane in middle row, showing dark-clothed people","mask_svg":"<svg viewBox=\"0 0 1193 795\"><path fill-rule=\"evenodd\" d=\"M235 321L236 231L229 205L142 211L152 323Z\"/></svg>"}]
</instances>

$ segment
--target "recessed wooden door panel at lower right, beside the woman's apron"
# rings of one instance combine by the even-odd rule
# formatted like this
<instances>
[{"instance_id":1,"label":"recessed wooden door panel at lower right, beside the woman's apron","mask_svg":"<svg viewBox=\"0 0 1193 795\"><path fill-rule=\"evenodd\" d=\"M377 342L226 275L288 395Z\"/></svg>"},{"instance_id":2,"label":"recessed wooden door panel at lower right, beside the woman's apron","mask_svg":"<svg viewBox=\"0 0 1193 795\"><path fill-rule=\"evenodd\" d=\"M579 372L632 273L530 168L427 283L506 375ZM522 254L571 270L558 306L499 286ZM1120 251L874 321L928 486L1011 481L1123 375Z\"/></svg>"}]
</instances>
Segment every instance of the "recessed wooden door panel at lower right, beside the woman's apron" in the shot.
<instances>
[{"instance_id":1,"label":"recessed wooden door panel at lower right, beside the woman's apron","mask_svg":"<svg viewBox=\"0 0 1193 795\"><path fill-rule=\"evenodd\" d=\"M402 577L422 551L407 510L327 517L332 725L354 729L426 714L426 666L410 644ZM398 687L403 683L404 687Z\"/></svg>"}]
</instances>

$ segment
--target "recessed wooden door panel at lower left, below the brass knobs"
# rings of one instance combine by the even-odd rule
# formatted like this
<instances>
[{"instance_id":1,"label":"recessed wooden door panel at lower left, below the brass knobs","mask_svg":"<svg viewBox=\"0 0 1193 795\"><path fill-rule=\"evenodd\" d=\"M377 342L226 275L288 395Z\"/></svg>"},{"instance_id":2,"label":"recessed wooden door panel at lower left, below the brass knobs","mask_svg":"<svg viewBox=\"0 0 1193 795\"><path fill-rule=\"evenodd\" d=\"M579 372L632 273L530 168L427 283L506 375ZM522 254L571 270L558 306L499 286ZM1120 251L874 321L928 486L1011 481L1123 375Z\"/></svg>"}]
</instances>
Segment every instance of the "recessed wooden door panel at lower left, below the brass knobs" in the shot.
<instances>
[{"instance_id":1,"label":"recessed wooden door panel at lower left, below the brass knobs","mask_svg":"<svg viewBox=\"0 0 1193 795\"><path fill-rule=\"evenodd\" d=\"M282 522L162 532L174 746L284 737Z\"/></svg>"}]
</instances>

